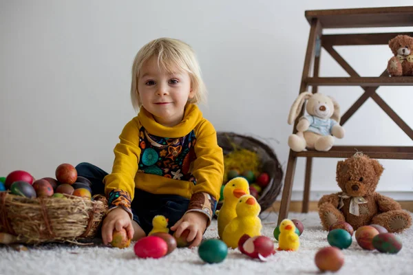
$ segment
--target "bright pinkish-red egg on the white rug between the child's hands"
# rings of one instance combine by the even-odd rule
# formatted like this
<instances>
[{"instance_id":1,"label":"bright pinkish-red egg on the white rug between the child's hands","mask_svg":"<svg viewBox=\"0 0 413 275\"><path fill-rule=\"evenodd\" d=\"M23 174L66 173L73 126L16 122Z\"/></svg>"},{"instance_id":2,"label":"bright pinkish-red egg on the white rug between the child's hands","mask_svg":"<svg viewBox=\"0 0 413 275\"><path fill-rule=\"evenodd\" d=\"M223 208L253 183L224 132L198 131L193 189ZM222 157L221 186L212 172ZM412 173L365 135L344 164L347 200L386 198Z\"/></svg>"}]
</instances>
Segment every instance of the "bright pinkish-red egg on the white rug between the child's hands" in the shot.
<instances>
[{"instance_id":1,"label":"bright pinkish-red egg on the white rug between the child's hands","mask_svg":"<svg viewBox=\"0 0 413 275\"><path fill-rule=\"evenodd\" d=\"M135 243L134 252L139 258L158 259L167 254L168 245L158 236L145 236Z\"/></svg>"}]
</instances>

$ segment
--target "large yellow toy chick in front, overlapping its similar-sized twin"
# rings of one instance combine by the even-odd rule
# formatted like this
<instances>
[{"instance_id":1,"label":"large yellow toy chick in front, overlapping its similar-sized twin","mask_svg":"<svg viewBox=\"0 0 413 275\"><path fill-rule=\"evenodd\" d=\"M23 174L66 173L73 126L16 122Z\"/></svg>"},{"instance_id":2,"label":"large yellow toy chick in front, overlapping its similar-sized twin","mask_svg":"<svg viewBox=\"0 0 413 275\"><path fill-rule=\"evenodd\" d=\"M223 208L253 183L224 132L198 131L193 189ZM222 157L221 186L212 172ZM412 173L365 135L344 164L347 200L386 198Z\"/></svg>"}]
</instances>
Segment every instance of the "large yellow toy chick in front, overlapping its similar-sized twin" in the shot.
<instances>
[{"instance_id":1,"label":"large yellow toy chick in front, overlapping its similar-sized twin","mask_svg":"<svg viewBox=\"0 0 413 275\"><path fill-rule=\"evenodd\" d=\"M226 225L222 234L222 241L229 248L237 248L238 241L244 234L249 236L260 236L262 230L261 219L258 215L261 212L260 203L251 195L242 196L235 207L237 217Z\"/></svg>"}]
</instances>

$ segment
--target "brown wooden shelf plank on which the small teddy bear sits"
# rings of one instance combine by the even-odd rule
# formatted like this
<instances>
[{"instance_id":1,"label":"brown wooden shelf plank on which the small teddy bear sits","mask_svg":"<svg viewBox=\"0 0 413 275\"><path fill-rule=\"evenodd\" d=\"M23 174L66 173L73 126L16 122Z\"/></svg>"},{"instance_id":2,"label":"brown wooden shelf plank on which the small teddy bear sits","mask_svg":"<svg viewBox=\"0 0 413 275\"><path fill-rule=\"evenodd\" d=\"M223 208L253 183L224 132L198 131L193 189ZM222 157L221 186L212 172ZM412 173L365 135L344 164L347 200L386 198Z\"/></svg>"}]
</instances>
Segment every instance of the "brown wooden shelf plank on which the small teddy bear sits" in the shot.
<instances>
[{"instance_id":1,"label":"brown wooden shelf plank on which the small teddy bear sits","mask_svg":"<svg viewBox=\"0 0 413 275\"><path fill-rule=\"evenodd\" d=\"M313 77L306 78L308 85L317 86L413 86L413 76L394 77Z\"/></svg>"}]
</instances>

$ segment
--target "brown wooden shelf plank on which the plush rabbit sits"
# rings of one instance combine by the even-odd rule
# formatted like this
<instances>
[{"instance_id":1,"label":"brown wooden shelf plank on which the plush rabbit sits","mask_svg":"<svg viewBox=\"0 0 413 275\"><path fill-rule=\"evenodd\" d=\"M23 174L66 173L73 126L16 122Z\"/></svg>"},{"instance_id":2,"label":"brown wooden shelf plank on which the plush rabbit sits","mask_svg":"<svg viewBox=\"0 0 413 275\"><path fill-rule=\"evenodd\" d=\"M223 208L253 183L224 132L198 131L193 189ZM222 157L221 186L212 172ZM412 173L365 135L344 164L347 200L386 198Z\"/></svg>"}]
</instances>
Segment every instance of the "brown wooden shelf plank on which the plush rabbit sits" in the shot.
<instances>
[{"instance_id":1,"label":"brown wooden shelf plank on which the plush rabbit sits","mask_svg":"<svg viewBox=\"0 0 413 275\"><path fill-rule=\"evenodd\" d=\"M293 152L295 157L347 158L354 153L365 153L375 159L413 159L413 146L333 146L328 152Z\"/></svg>"}]
</instances>

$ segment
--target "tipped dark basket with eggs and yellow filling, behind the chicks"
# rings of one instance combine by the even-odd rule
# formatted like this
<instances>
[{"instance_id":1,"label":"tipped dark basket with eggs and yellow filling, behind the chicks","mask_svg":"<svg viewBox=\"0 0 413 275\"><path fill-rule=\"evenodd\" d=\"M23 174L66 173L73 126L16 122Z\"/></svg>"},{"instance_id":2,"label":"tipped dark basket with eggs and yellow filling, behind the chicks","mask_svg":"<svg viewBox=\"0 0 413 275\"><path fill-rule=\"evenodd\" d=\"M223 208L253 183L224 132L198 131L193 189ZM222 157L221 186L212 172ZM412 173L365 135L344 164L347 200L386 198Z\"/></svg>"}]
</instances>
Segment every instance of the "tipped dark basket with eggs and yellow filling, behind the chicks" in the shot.
<instances>
[{"instance_id":1,"label":"tipped dark basket with eggs and yellow filling, behind the chicks","mask_svg":"<svg viewBox=\"0 0 413 275\"><path fill-rule=\"evenodd\" d=\"M234 177L244 177L262 211L273 205L282 188L283 170L273 149L254 137L218 132L218 144L224 151L224 182L218 209L224 199L223 188Z\"/></svg>"}]
</instances>

